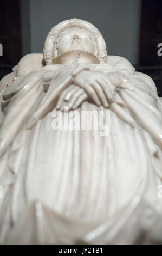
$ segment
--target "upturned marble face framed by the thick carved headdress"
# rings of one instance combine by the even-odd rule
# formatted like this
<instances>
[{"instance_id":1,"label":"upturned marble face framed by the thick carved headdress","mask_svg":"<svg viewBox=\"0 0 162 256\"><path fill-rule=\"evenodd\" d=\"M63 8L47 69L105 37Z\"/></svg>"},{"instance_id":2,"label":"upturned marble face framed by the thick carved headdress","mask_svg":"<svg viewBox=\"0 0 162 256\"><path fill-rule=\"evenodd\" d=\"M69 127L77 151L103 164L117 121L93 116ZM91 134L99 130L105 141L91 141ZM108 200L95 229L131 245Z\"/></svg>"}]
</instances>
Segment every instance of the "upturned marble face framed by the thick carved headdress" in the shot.
<instances>
[{"instance_id":1,"label":"upturned marble face framed by the thick carved headdress","mask_svg":"<svg viewBox=\"0 0 162 256\"><path fill-rule=\"evenodd\" d=\"M94 54L94 45L85 31L72 29L67 31L61 38L59 44L59 54L71 51L82 50Z\"/></svg>"}]
</instances>

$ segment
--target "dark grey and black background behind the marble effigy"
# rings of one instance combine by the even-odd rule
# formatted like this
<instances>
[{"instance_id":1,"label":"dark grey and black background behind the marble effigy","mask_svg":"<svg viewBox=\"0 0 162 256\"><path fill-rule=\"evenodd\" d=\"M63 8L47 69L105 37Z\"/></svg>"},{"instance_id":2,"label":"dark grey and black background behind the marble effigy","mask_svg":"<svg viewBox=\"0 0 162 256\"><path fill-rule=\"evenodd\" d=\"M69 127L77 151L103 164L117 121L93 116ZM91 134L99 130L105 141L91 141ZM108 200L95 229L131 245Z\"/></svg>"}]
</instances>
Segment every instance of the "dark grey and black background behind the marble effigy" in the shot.
<instances>
[{"instance_id":1,"label":"dark grey and black background behind the marble effigy","mask_svg":"<svg viewBox=\"0 0 162 256\"><path fill-rule=\"evenodd\" d=\"M108 54L125 57L150 75L162 97L161 0L0 0L0 79L25 54L42 52L50 28L72 17L98 27Z\"/></svg>"}]
</instances>

